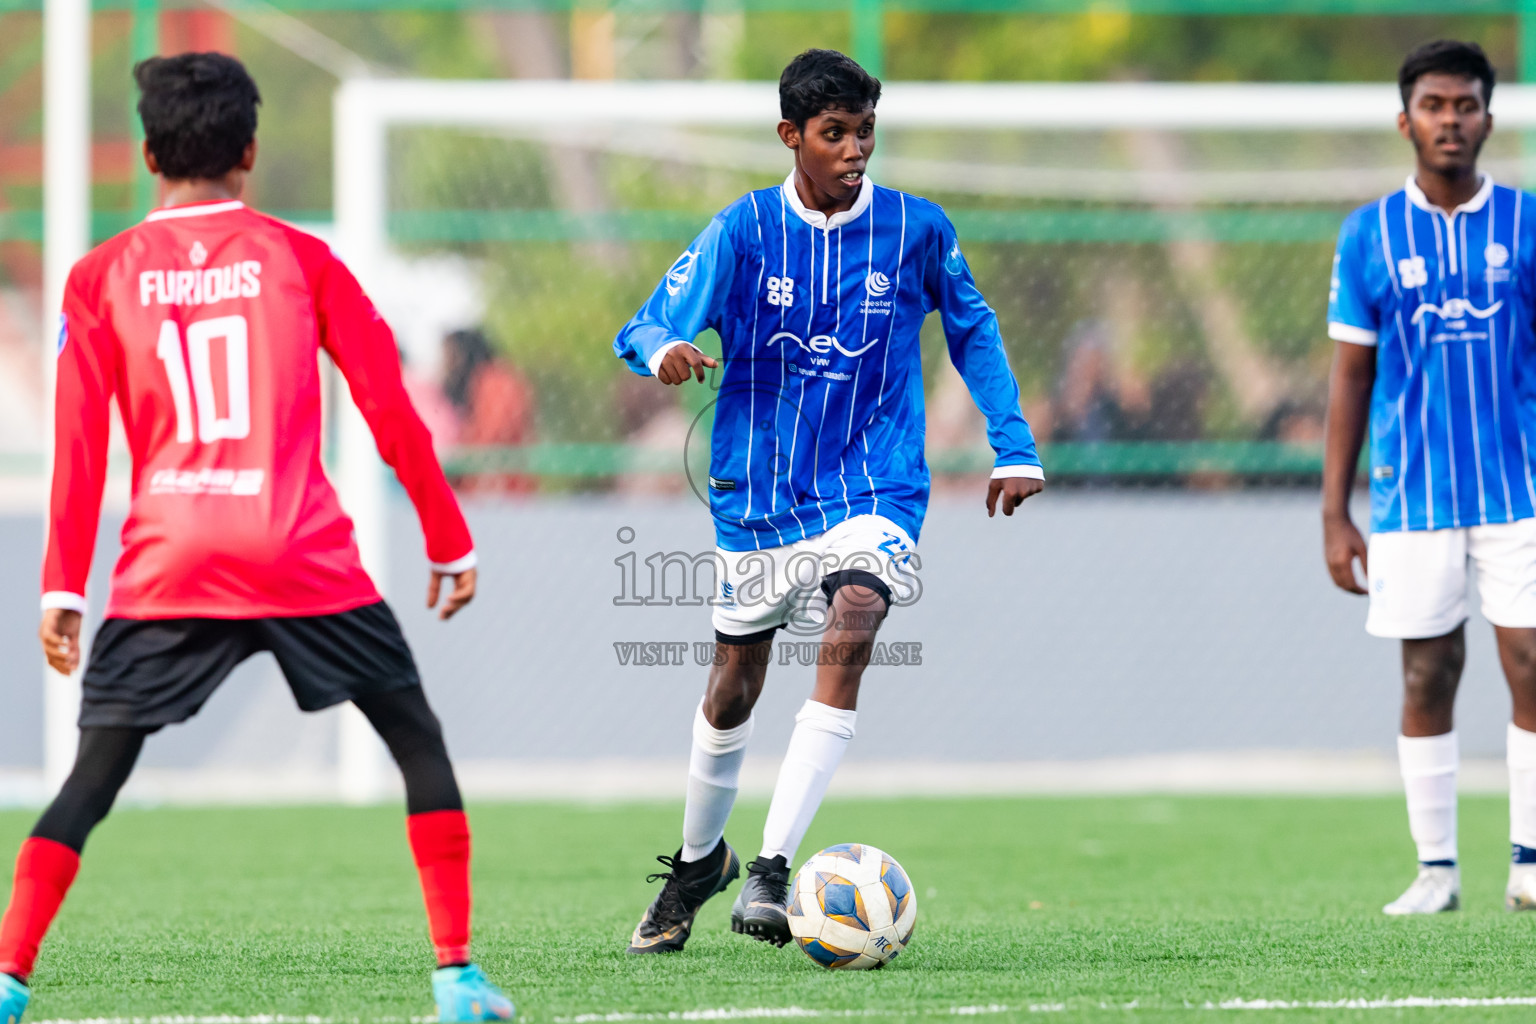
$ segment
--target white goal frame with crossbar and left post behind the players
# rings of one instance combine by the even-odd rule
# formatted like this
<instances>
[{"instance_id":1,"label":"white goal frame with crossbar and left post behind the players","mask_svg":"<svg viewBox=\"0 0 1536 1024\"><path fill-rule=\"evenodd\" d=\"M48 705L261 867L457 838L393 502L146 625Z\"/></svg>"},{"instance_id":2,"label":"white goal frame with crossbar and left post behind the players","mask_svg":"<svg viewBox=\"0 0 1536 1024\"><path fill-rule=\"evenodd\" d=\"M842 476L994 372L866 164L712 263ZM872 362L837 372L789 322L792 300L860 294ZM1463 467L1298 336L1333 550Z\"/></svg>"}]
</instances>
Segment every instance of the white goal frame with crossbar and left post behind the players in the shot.
<instances>
[{"instance_id":1,"label":"white goal frame with crossbar and left post behind the players","mask_svg":"<svg viewBox=\"0 0 1536 1024\"><path fill-rule=\"evenodd\" d=\"M879 107L885 129L1049 132L1392 130L1398 111L1398 91L1392 83L892 81ZM1536 86L1501 86L1495 114L1504 129L1536 127ZM389 250L387 137L393 127L521 130L548 141L570 141L573 126L581 126L585 137L581 141L590 144L593 126L608 126L610 135L630 132L631 137L637 126L762 127L768 132L777 118L777 86L773 83L346 80L333 106L336 249L364 287L381 286L381 264ZM963 154L955 160L963 161ZM879 155L874 172L880 177ZM382 585L392 568L384 554L386 470L361 416L350 402L343 399L343 404L338 485L356 522L364 562ZM373 798L381 792L381 748L361 715L344 715L341 729L339 791L352 800Z\"/></svg>"}]
</instances>

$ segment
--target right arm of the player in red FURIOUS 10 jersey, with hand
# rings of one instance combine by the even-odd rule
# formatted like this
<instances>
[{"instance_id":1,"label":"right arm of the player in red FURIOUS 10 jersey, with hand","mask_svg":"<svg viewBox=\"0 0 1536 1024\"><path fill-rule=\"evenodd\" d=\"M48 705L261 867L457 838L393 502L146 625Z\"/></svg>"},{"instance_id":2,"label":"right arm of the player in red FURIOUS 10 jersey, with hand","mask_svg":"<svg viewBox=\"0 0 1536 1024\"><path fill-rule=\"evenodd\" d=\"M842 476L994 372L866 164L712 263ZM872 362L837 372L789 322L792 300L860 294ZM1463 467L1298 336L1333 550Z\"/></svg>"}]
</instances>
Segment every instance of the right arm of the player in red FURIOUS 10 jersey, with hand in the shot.
<instances>
[{"instance_id":1,"label":"right arm of the player in red FURIOUS 10 jersey, with hand","mask_svg":"<svg viewBox=\"0 0 1536 1024\"><path fill-rule=\"evenodd\" d=\"M432 448L432 434L406 395L395 335L341 259L329 249L310 259L318 264L310 272L310 287L321 344L347 379L352 401L373 431L379 457L395 470L416 507L432 563L429 608L436 608L444 577L453 580L438 613L439 619L452 619L475 597L475 540Z\"/></svg>"}]
</instances>

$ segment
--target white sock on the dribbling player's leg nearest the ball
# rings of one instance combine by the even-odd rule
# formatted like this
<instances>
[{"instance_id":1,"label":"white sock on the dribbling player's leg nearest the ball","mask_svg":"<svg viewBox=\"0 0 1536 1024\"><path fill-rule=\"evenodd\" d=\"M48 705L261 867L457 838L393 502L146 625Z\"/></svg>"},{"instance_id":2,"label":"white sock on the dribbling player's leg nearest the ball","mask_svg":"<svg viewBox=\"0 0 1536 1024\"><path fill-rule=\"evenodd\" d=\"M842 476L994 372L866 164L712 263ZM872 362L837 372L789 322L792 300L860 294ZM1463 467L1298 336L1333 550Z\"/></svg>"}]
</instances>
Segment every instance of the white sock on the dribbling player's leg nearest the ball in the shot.
<instances>
[{"instance_id":1,"label":"white sock on the dribbling player's leg nearest the ball","mask_svg":"<svg viewBox=\"0 0 1536 1024\"><path fill-rule=\"evenodd\" d=\"M763 824L765 858L783 857L794 866L794 852L811 827L811 818L822 806L826 786L833 781L837 763L843 760L848 742L854 738L857 711L843 711L829 705L806 700L794 717L794 734L785 751L779 781L768 804L768 823Z\"/></svg>"}]
</instances>

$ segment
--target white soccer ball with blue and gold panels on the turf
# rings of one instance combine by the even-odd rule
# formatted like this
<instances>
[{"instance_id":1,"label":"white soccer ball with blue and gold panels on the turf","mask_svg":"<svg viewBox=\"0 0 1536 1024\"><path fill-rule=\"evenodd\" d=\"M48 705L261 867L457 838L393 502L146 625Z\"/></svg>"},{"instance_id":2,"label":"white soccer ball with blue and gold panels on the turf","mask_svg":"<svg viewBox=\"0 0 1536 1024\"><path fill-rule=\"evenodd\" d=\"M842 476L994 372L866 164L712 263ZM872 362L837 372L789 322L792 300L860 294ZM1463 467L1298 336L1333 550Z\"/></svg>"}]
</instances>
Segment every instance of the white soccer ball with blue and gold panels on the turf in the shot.
<instances>
[{"instance_id":1,"label":"white soccer ball with blue and gold panels on the turf","mask_svg":"<svg viewBox=\"0 0 1536 1024\"><path fill-rule=\"evenodd\" d=\"M790 933L829 970L883 967L912 938L917 894L889 854L842 843L805 861L790 889Z\"/></svg>"}]
</instances>

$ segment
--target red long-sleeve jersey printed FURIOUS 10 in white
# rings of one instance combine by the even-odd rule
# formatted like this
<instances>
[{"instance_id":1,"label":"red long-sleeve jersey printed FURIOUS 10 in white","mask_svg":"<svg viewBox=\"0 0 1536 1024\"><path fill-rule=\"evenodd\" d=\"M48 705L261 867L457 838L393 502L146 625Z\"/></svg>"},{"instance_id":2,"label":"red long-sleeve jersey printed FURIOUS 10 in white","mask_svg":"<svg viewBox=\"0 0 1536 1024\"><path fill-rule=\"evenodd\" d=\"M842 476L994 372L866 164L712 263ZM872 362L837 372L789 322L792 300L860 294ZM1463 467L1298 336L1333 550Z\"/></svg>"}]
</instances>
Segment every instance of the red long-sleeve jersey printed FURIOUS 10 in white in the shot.
<instances>
[{"instance_id":1,"label":"red long-sleeve jersey printed FURIOUS 10 in white","mask_svg":"<svg viewBox=\"0 0 1536 1024\"><path fill-rule=\"evenodd\" d=\"M319 616L379 600L321 468L319 350L421 517L433 568L473 542L401 384L395 338L312 235L238 201L151 213L75 264L58 329L43 606L84 609L108 404L134 459L108 617Z\"/></svg>"}]
</instances>

